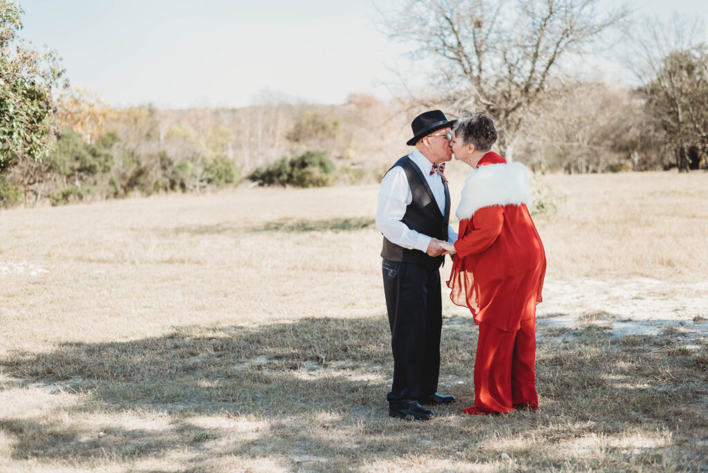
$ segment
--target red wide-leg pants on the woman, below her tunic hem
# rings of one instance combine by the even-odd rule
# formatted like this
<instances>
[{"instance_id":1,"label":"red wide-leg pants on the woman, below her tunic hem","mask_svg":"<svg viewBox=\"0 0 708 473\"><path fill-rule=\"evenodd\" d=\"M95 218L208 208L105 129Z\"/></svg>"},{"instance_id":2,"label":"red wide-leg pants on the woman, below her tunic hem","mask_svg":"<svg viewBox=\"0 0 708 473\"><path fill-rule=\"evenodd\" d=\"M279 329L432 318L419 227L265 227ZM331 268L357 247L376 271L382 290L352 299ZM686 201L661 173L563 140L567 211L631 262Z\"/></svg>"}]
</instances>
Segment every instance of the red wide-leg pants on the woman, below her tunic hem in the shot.
<instances>
[{"instance_id":1,"label":"red wide-leg pants on the woman, below her tunic hem","mask_svg":"<svg viewBox=\"0 0 708 473\"><path fill-rule=\"evenodd\" d=\"M479 324L474 361L474 407L465 414L509 412L515 407L538 408L536 394L535 320L521 321L517 331L506 332Z\"/></svg>"}]
</instances>

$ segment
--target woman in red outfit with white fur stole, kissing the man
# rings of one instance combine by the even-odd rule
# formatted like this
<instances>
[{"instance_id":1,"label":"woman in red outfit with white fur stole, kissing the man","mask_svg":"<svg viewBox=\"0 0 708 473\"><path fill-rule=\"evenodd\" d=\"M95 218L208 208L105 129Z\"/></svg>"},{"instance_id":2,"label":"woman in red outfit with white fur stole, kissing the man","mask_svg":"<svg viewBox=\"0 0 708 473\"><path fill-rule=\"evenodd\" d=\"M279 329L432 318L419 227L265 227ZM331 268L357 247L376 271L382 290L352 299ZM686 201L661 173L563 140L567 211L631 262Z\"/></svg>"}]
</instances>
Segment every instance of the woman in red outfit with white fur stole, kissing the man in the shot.
<instances>
[{"instance_id":1,"label":"woman in red outfit with white fur stole, kissing the man","mask_svg":"<svg viewBox=\"0 0 708 473\"><path fill-rule=\"evenodd\" d=\"M479 325L474 406L465 414L538 409L535 387L536 304L546 254L527 205L528 172L491 152L496 129L484 113L464 112L451 142L472 167L457 207L459 239L448 287Z\"/></svg>"}]
</instances>

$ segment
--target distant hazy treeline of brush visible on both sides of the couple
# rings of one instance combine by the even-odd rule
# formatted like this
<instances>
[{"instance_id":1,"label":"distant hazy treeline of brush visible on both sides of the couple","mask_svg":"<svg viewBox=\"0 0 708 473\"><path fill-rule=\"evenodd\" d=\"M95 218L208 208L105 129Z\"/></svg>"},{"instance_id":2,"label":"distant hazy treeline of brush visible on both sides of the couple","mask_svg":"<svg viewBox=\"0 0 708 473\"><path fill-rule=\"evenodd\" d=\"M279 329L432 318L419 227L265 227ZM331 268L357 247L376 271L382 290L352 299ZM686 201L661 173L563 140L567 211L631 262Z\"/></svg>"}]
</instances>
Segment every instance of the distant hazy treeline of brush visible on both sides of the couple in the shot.
<instances>
[{"instance_id":1,"label":"distant hazy treeline of brush visible on both sides of the couple","mask_svg":"<svg viewBox=\"0 0 708 473\"><path fill-rule=\"evenodd\" d=\"M661 106L651 86L558 84L527 120L515 160L540 172L705 168L700 136L682 145ZM113 109L82 91L62 95L56 110L59 129L47 157L18 159L3 169L3 205L200 193L247 178L276 186L375 182L408 151L409 115L418 111L413 103L370 96L338 106ZM455 116L455 110L447 113Z\"/></svg>"}]
</instances>

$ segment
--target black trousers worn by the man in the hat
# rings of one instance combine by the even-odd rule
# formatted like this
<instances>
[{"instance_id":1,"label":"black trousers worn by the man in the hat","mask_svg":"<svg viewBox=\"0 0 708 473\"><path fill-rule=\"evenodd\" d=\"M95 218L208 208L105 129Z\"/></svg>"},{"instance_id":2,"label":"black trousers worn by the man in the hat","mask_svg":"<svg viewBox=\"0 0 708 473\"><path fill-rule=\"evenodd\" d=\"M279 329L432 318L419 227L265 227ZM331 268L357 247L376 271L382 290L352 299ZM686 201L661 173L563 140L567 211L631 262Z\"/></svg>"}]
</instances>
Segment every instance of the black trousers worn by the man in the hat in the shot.
<instances>
[{"instance_id":1,"label":"black trousers worn by the man in the hat","mask_svg":"<svg viewBox=\"0 0 708 473\"><path fill-rule=\"evenodd\" d=\"M394 355L394 383L386 399L419 399L438 390L440 271L384 259L382 272Z\"/></svg>"}]
</instances>

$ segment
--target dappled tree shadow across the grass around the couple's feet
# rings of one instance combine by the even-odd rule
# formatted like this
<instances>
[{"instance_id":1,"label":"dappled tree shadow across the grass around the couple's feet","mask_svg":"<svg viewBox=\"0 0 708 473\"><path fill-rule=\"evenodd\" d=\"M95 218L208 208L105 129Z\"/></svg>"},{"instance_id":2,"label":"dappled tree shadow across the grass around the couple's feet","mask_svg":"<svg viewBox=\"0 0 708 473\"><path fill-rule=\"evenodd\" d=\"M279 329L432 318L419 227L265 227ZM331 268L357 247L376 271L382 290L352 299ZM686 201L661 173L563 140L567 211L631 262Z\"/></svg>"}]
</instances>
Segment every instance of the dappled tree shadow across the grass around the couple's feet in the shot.
<instances>
[{"instance_id":1,"label":"dappled tree shadow across the grass around the couple's feet","mask_svg":"<svg viewBox=\"0 0 708 473\"><path fill-rule=\"evenodd\" d=\"M474 397L476 334L469 331L471 321L451 322L443 329L441 382L449 382L445 392L460 402L438 409L440 417L429 423L386 416L392 363L388 326L379 317L179 327L163 337L16 353L0 359L6 374L86 393L79 404L59 409L70 417L137 412L168 421L145 429L67 423L47 414L0 418L0 430L11 438L16 459L76 465L106 455L132 462L185 449L191 452L185 469L230 455L267 456L287 469L344 471L422 452L437 461L493 465L501 451L527 469L705 465L697 459L705 458L707 448L697 439L708 428L700 414L708 403L708 377L700 355L666 349L680 334L661 343L612 341L607 331L578 329L569 343L539 345L541 411L469 418L459 409ZM204 418L219 421L205 424ZM651 437L662 430L684 440L628 451L603 444L602 455L572 452L571 460L562 448L588 435Z\"/></svg>"}]
</instances>

